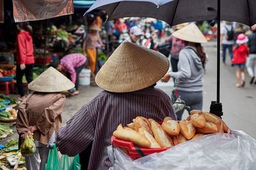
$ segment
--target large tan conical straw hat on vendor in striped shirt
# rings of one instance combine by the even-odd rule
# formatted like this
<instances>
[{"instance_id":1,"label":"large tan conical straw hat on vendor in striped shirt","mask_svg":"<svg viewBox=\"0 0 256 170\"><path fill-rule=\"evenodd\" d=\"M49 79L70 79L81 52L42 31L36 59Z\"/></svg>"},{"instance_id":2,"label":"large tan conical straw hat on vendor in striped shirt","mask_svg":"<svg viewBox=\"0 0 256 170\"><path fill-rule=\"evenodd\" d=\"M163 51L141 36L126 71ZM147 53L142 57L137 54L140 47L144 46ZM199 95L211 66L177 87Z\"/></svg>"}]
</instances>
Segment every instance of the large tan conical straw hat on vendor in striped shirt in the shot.
<instances>
[{"instance_id":1,"label":"large tan conical straw hat on vendor in striped shirt","mask_svg":"<svg viewBox=\"0 0 256 170\"><path fill-rule=\"evenodd\" d=\"M168 68L163 54L125 41L101 67L95 81L109 92L134 92L154 85Z\"/></svg>"}]
</instances>

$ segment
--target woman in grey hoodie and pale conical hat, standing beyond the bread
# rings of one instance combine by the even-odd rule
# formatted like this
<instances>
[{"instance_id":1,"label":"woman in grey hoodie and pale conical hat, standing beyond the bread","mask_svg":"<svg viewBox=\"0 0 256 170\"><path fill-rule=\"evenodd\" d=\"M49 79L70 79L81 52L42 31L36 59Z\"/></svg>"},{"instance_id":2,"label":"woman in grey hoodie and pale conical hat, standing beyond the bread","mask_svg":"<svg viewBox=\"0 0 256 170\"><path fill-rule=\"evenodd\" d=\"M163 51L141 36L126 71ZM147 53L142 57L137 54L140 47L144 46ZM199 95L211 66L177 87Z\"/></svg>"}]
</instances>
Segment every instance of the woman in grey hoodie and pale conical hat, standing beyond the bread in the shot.
<instances>
[{"instance_id":1,"label":"woman in grey hoodie and pale conical hat, standing beyond the bread","mask_svg":"<svg viewBox=\"0 0 256 170\"><path fill-rule=\"evenodd\" d=\"M176 97L180 96L191 110L202 110L206 56L201 43L207 40L194 23L173 32L173 36L184 40L186 47L179 52L178 72L166 73L162 81L175 78ZM181 120L182 114L177 114L178 120Z\"/></svg>"}]
</instances>

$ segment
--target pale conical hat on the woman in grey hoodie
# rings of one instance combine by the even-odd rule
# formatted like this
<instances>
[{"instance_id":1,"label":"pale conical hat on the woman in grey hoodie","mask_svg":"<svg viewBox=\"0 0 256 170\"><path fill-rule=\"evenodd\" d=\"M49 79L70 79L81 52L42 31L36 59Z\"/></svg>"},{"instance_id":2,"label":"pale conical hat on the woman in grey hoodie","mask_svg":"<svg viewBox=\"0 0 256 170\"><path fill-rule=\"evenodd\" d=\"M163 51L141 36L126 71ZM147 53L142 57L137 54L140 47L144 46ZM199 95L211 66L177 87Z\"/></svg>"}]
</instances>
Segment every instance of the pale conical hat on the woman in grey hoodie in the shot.
<instances>
[{"instance_id":1,"label":"pale conical hat on the woman in grey hoodie","mask_svg":"<svg viewBox=\"0 0 256 170\"><path fill-rule=\"evenodd\" d=\"M182 39L184 41L189 41L193 43L207 43L207 39L204 34L198 29L196 24L191 23L172 34L176 38Z\"/></svg>"}]
</instances>

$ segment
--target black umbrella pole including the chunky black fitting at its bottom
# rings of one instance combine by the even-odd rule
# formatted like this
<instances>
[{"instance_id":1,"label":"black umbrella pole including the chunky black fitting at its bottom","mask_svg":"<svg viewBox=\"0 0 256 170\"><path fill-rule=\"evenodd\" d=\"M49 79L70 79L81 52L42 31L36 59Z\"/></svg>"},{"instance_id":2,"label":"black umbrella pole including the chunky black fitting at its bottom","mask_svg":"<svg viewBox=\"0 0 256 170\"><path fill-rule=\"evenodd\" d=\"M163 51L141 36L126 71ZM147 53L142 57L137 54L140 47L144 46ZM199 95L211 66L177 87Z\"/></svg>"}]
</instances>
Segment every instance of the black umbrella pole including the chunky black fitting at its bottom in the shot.
<instances>
[{"instance_id":1,"label":"black umbrella pole including the chunky black fitting at its bottom","mask_svg":"<svg viewBox=\"0 0 256 170\"><path fill-rule=\"evenodd\" d=\"M223 112L222 104L220 103L220 0L218 0L217 23L217 101L212 101L210 113L214 113L214 115L221 117L223 115Z\"/></svg>"}]
</instances>

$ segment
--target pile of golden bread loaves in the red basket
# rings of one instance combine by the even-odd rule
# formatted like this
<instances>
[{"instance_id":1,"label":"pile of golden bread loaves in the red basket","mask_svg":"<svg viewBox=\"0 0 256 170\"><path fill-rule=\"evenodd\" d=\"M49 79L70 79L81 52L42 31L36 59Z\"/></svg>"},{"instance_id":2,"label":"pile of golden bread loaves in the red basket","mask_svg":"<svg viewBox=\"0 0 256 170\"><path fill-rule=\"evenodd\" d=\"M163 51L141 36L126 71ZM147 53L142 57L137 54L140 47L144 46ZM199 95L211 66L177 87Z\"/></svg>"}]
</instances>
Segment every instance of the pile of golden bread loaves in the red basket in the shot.
<instances>
[{"instance_id":1,"label":"pile of golden bread loaves in the red basket","mask_svg":"<svg viewBox=\"0 0 256 170\"><path fill-rule=\"evenodd\" d=\"M190 113L186 120L166 117L161 125L150 118L136 117L127 127L118 125L113 136L145 148L169 148L204 134L228 132L220 117L199 110Z\"/></svg>"}]
</instances>

